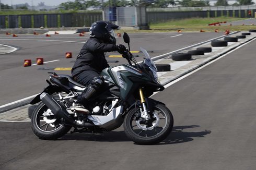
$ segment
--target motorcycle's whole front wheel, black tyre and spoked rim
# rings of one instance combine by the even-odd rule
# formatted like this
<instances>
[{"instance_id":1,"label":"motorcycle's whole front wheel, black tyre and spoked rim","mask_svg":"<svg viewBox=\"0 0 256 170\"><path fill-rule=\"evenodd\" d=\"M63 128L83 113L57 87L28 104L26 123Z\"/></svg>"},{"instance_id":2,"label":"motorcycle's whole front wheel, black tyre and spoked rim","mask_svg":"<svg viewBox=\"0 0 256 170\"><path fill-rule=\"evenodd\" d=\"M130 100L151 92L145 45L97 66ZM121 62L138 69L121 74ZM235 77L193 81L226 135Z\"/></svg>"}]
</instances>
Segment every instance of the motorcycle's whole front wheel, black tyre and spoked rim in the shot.
<instances>
[{"instance_id":1,"label":"motorcycle's whole front wheel, black tyre and spoked rim","mask_svg":"<svg viewBox=\"0 0 256 170\"><path fill-rule=\"evenodd\" d=\"M173 116L165 105L155 104L149 120L141 115L140 108L134 108L124 118L124 132L135 143L159 143L171 132Z\"/></svg>"}]
</instances>

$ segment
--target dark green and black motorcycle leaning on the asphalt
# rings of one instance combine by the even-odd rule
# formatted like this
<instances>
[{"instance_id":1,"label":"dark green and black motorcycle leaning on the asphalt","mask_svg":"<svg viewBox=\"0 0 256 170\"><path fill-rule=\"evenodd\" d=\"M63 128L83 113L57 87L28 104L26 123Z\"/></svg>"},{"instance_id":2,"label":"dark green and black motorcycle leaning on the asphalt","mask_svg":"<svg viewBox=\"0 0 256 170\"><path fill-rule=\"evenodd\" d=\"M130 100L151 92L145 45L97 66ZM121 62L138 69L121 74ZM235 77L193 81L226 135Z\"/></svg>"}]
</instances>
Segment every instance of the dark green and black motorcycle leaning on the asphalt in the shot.
<instances>
[{"instance_id":1,"label":"dark green and black motorcycle leaning on the asphalt","mask_svg":"<svg viewBox=\"0 0 256 170\"><path fill-rule=\"evenodd\" d=\"M128 64L103 69L104 88L93 96L86 108L89 115L71 111L72 104L85 88L71 76L49 72L49 86L30 104L38 104L31 115L31 128L44 140L73 132L99 133L119 128L122 124L128 138L138 144L155 144L172 130L173 116L164 103L149 98L165 88L158 82L157 68L146 50L138 64L130 52L130 37L123 35L129 48L122 53ZM133 64L132 64L133 62Z\"/></svg>"}]
</instances>

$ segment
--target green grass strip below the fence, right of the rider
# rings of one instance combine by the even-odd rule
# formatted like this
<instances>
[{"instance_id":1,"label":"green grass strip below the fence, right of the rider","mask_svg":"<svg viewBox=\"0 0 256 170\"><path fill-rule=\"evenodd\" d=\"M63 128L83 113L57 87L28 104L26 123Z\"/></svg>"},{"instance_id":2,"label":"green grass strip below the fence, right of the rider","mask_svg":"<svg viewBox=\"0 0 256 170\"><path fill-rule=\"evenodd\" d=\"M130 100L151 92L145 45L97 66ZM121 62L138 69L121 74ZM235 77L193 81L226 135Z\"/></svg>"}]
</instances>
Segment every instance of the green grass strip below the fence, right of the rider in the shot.
<instances>
[{"instance_id":1,"label":"green grass strip below the fence, right of the rider","mask_svg":"<svg viewBox=\"0 0 256 170\"><path fill-rule=\"evenodd\" d=\"M248 31L250 29L256 29L256 26L208 26L209 23L214 22L231 22L237 20L243 20L247 18L234 18L234 17L217 17L217 18L190 18L190 19L180 19L171 20L161 23L150 24L150 30L119 30L122 32L177 32L177 30L182 30L182 32L200 32L204 30L205 32L214 32L218 29L220 32L225 32L225 30L231 31Z\"/></svg>"}]
</instances>

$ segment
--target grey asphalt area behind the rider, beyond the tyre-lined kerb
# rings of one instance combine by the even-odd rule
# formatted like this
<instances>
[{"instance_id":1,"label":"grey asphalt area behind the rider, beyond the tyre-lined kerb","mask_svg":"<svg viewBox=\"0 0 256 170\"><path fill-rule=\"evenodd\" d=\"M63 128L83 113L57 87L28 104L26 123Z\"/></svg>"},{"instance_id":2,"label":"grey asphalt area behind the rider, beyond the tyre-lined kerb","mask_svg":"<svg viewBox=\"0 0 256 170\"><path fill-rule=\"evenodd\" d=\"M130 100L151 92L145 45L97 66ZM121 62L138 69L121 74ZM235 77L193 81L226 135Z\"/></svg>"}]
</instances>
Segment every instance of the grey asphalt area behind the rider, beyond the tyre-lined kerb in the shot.
<instances>
[{"instance_id":1,"label":"grey asphalt area behind the rider, beyond the tyre-lined kerb","mask_svg":"<svg viewBox=\"0 0 256 170\"><path fill-rule=\"evenodd\" d=\"M196 43L217 38L223 33L139 33L130 34L131 50L138 51L139 47L145 48L150 55L158 56ZM58 34L52 37L45 35L0 35L0 44L15 46L19 50L0 55L0 106L27 98L28 96L40 93L46 86L45 79L48 78L48 71L56 67L72 67L75 57L87 37L79 37L78 34ZM122 38L117 38L117 44L124 44ZM65 58L65 52L72 52L73 58ZM117 54L117 53L108 53ZM136 55L136 54L135 54ZM142 60L142 54L138 54L138 60ZM36 58L42 57L44 65L23 67L24 59L31 59L32 64ZM110 65L127 63L124 58L107 58ZM112 63L118 60L119 63ZM59 74L70 75L71 71L55 71Z\"/></svg>"}]
</instances>

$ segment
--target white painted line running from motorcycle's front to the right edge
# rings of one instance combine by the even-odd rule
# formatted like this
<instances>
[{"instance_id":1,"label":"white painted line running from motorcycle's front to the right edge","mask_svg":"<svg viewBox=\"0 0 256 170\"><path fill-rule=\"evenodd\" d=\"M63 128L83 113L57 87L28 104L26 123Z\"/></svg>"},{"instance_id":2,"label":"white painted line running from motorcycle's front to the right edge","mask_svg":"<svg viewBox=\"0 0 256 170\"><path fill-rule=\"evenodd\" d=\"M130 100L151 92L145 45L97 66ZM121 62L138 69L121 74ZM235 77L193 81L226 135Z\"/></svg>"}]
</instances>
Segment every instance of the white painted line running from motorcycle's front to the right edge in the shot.
<instances>
[{"instance_id":1,"label":"white painted line running from motorcycle's front to the right edge","mask_svg":"<svg viewBox=\"0 0 256 170\"><path fill-rule=\"evenodd\" d=\"M233 49L233 50L227 52L226 54L224 54L224 55L222 55L222 56L219 56L218 58L212 60L211 62L206 63L205 65L203 65L203 66L201 66L201 67L199 67L199 68L197 68L197 69L195 69L195 70L189 72L188 74L185 74L184 76L182 76L182 77L180 77L180 78L178 78L178 79L176 79L176 80L173 80L172 82L166 84L164 87L165 87L165 88L170 87L172 84L174 84L174 83L176 83L176 82L178 82L178 81L180 81L180 80L182 80L182 79L184 79L184 78L186 78L186 77L188 77L188 76L194 74L196 71L199 71L199 70L203 69L204 67L206 67L206 66L208 66L208 65L210 65L210 64L212 64L212 63L214 63L214 62L216 62L217 60L219 60L219 59L225 57L226 55L228 55L228 54L230 54L230 53L232 53L232 52L238 50L238 49L241 48L242 46L245 46L245 45L249 44L250 42L252 42L252 41L254 41L254 40L256 40L256 39L253 39L253 40L251 40L251 41L249 41L249 42L247 42L247 43L245 43L245 44L242 44L242 45L238 46L237 48L235 48L235 49ZM153 95L155 95L156 93L158 93L158 92L155 92Z\"/></svg>"}]
</instances>

